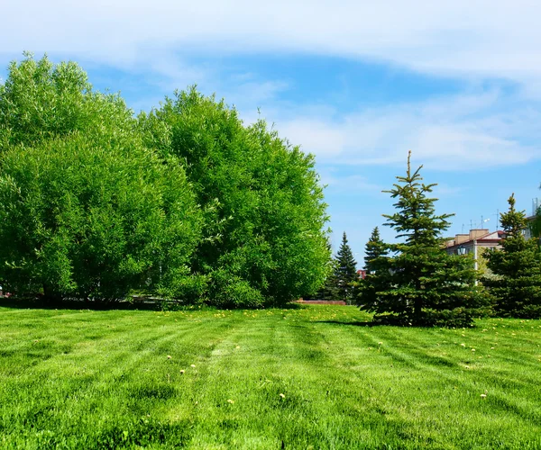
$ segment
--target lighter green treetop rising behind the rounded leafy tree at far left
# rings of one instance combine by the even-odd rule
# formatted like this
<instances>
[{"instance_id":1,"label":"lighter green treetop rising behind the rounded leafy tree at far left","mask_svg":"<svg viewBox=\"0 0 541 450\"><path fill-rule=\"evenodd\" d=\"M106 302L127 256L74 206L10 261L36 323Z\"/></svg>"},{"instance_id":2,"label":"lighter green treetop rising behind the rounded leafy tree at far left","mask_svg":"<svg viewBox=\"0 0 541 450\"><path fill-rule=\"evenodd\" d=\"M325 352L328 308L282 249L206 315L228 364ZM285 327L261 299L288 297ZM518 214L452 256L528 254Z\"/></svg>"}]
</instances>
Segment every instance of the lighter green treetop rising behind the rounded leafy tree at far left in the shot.
<instances>
[{"instance_id":1,"label":"lighter green treetop rising behind the rounded leafy tree at far left","mask_svg":"<svg viewBox=\"0 0 541 450\"><path fill-rule=\"evenodd\" d=\"M133 128L132 112L120 96L93 92L76 63L55 65L47 57L36 61L24 55L21 63L9 65L0 85L0 151L77 131L114 128L116 139Z\"/></svg>"}]
</instances>

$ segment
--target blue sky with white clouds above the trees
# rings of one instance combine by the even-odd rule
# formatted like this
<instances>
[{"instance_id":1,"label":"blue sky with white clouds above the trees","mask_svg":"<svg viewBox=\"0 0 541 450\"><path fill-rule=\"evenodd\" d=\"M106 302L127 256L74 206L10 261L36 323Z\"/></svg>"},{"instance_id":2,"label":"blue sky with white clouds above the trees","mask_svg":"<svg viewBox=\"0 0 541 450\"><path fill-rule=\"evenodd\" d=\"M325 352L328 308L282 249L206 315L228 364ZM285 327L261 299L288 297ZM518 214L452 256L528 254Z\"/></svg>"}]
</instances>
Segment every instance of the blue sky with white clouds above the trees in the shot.
<instances>
[{"instance_id":1,"label":"blue sky with white clouds above the trees","mask_svg":"<svg viewBox=\"0 0 541 450\"><path fill-rule=\"evenodd\" d=\"M197 85L316 156L333 247L359 266L412 165L437 183L447 236L531 214L541 191L538 0L6 0L0 77L23 50L77 61L134 112Z\"/></svg>"}]
</instances>

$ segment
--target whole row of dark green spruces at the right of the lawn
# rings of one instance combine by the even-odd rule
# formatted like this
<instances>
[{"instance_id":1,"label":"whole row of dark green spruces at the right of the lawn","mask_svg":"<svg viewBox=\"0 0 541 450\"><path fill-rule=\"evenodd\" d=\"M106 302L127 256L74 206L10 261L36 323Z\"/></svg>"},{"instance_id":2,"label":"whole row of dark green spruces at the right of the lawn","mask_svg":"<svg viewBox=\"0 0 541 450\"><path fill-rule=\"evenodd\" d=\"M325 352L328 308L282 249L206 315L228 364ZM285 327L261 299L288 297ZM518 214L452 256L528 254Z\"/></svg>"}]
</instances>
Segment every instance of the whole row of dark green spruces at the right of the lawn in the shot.
<instances>
[{"instance_id":1,"label":"whole row of dark green spruces at the right of the lawn","mask_svg":"<svg viewBox=\"0 0 541 450\"><path fill-rule=\"evenodd\" d=\"M406 175L387 191L396 202L384 225L397 232L397 243L383 242L373 229L361 279L351 270L344 233L335 271L321 292L355 302L379 323L464 327L487 315L541 318L541 249L538 238L525 238L526 214L516 211L514 195L500 217L501 248L481 255L490 269L481 274L472 254L445 251L442 236L452 214L436 214L437 199L429 195L436 184L424 184L422 166L412 170L409 158Z\"/></svg>"}]
</instances>

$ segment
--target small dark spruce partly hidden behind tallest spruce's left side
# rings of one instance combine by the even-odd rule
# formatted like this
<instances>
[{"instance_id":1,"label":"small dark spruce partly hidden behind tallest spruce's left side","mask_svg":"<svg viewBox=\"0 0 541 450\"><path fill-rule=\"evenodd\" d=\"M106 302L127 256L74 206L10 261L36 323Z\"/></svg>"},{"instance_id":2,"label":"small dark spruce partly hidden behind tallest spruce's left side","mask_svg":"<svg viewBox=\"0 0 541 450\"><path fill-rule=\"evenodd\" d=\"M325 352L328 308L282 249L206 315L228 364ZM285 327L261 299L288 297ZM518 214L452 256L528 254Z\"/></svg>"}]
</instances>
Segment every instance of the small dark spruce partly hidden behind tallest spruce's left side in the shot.
<instances>
[{"instance_id":1,"label":"small dark spruce partly hidden behind tallest spruce's left side","mask_svg":"<svg viewBox=\"0 0 541 450\"><path fill-rule=\"evenodd\" d=\"M380 238L380 229L376 227L364 247L363 280L357 286L357 304L362 310L372 311L377 302L377 293L387 290L389 285L388 246Z\"/></svg>"}]
</instances>

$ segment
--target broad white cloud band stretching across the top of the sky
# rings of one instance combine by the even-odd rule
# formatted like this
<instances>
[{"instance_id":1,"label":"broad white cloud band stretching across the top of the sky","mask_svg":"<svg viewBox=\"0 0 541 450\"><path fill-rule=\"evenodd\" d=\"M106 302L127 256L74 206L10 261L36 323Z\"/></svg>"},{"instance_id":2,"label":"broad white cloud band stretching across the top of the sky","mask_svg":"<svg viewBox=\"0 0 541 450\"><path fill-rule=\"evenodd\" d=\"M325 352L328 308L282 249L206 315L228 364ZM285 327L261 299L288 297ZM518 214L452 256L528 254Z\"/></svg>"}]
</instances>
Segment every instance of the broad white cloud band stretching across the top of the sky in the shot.
<instances>
[{"instance_id":1,"label":"broad white cloud band stretching across the top of the sky","mask_svg":"<svg viewBox=\"0 0 541 450\"><path fill-rule=\"evenodd\" d=\"M509 77L537 92L540 15L536 0L34 0L3 5L9 20L0 41L4 52L84 53L114 65L144 56L154 69L173 72L155 61L172 51L375 58L430 73Z\"/></svg>"}]
</instances>

